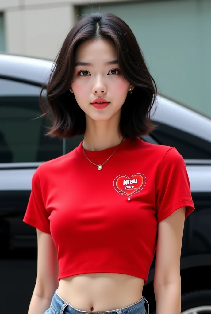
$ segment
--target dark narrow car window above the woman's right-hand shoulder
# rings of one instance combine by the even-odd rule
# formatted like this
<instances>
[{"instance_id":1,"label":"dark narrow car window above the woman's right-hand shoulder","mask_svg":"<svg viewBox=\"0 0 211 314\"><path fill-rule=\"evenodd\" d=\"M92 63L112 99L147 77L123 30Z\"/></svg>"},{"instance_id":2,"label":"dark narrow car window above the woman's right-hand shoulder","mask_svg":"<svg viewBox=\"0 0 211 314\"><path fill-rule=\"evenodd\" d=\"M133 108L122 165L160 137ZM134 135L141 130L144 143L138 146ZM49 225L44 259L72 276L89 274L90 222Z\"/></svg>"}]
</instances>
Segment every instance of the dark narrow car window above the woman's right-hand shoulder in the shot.
<instances>
[{"instance_id":1,"label":"dark narrow car window above the woman's right-hand shoulder","mask_svg":"<svg viewBox=\"0 0 211 314\"><path fill-rule=\"evenodd\" d=\"M161 145L175 147L184 159L211 159L211 142L175 127L155 122L158 127L151 135Z\"/></svg>"}]
</instances>

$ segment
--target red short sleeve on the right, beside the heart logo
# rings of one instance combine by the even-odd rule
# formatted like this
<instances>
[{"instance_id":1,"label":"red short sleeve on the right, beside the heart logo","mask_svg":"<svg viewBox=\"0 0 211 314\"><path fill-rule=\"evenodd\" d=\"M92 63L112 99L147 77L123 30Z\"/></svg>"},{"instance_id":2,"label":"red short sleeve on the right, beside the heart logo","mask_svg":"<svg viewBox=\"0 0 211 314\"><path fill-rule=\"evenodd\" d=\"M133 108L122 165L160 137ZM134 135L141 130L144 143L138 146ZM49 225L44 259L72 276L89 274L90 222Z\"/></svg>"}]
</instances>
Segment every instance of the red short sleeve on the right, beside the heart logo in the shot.
<instances>
[{"instance_id":1,"label":"red short sleeve on the right, beside the heart logo","mask_svg":"<svg viewBox=\"0 0 211 314\"><path fill-rule=\"evenodd\" d=\"M186 206L185 218L195 209L185 161L174 147L164 156L156 178L155 194L158 223L180 207Z\"/></svg>"}]
</instances>

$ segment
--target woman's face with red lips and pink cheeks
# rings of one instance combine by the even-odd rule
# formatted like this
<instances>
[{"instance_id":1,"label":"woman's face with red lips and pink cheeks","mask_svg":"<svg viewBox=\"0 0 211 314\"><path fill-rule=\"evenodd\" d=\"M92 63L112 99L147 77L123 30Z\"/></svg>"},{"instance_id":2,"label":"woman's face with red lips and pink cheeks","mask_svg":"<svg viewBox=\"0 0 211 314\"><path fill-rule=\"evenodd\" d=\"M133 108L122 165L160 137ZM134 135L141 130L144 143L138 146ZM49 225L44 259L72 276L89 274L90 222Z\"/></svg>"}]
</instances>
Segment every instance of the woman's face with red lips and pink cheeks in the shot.
<instances>
[{"instance_id":1,"label":"woman's face with red lips and pink cheeks","mask_svg":"<svg viewBox=\"0 0 211 314\"><path fill-rule=\"evenodd\" d=\"M112 41L84 41L78 46L70 89L88 117L107 120L114 115L120 116L121 107L131 87L122 77ZM92 104L97 98L104 98L108 103Z\"/></svg>"}]
</instances>

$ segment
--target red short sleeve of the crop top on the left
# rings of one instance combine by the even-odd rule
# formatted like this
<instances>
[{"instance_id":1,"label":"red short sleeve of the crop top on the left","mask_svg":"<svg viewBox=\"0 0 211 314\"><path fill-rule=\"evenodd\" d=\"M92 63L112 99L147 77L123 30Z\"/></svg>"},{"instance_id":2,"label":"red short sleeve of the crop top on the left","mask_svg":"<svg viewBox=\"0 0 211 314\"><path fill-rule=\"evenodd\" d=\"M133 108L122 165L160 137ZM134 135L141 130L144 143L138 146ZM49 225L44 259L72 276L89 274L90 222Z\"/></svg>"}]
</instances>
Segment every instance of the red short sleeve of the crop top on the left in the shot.
<instances>
[{"instance_id":1,"label":"red short sleeve of the crop top on the left","mask_svg":"<svg viewBox=\"0 0 211 314\"><path fill-rule=\"evenodd\" d=\"M43 232L51 233L48 218L49 214L42 198L39 166L32 176L31 193L23 221Z\"/></svg>"}]
</instances>

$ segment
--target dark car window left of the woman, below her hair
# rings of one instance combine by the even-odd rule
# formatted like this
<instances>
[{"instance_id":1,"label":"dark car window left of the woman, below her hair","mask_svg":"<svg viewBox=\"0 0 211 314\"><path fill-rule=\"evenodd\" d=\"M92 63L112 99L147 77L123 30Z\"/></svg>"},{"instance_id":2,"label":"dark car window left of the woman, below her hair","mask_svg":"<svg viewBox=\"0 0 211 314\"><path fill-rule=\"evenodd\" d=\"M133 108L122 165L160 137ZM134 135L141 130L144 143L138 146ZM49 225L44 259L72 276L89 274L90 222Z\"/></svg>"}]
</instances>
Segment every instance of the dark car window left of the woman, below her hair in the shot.
<instances>
[{"instance_id":1,"label":"dark car window left of the woman, below her hair","mask_svg":"<svg viewBox=\"0 0 211 314\"><path fill-rule=\"evenodd\" d=\"M44 136L41 88L0 78L0 163L47 161L62 155L62 139Z\"/></svg>"}]
</instances>

